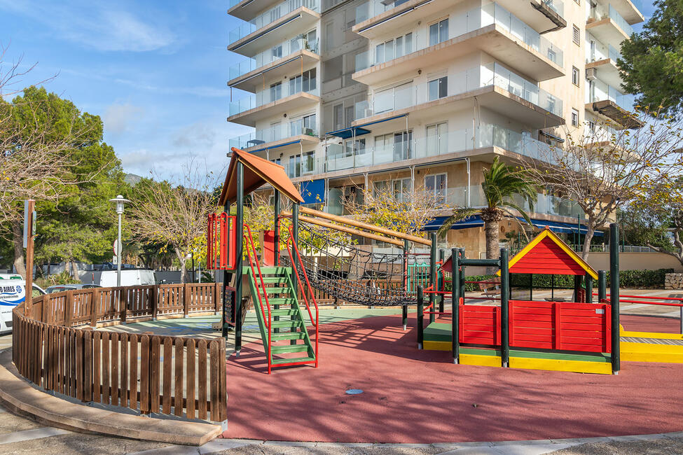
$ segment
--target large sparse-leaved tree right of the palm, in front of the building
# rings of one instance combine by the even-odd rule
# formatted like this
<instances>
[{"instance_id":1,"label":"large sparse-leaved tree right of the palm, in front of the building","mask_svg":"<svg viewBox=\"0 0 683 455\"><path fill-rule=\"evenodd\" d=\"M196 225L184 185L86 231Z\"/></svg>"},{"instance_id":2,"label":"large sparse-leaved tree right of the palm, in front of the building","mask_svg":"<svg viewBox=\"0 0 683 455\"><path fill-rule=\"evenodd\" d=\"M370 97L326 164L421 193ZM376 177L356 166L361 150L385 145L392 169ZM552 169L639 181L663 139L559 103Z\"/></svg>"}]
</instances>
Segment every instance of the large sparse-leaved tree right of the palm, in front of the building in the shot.
<instances>
[{"instance_id":1,"label":"large sparse-leaved tree right of the palm, in front of the building","mask_svg":"<svg viewBox=\"0 0 683 455\"><path fill-rule=\"evenodd\" d=\"M538 186L546 186L584 212L584 260L595 230L614 221L617 211L649 188L672 179L682 164L679 120L647 109L628 115L638 122L647 120L647 126L615 130L614 124L601 121L576 138L567 132L564 147L539 148L537 160L523 160Z\"/></svg>"}]
</instances>

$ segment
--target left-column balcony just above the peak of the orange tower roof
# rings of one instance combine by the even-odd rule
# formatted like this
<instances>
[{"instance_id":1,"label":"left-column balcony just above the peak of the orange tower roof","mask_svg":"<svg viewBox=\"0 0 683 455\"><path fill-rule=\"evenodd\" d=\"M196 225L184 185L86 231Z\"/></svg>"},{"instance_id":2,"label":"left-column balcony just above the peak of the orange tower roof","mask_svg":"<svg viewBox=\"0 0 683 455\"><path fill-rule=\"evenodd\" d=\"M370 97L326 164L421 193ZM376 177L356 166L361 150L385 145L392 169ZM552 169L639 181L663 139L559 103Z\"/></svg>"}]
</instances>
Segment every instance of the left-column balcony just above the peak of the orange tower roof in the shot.
<instances>
[{"instance_id":1,"label":"left-column balcony just above the peak of the orange tower roof","mask_svg":"<svg viewBox=\"0 0 683 455\"><path fill-rule=\"evenodd\" d=\"M291 144L292 147L298 149L299 144L303 146L310 146L319 143L317 125L314 127L304 127L302 120L294 120L293 122L285 123L284 125L277 125L270 127L267 130L256 130L249 134L242 134L242 136L230 139L230 148L239 148L247 152L268 150L270 148L281 148L286 151Z\"/></svg>"}]
</instances>

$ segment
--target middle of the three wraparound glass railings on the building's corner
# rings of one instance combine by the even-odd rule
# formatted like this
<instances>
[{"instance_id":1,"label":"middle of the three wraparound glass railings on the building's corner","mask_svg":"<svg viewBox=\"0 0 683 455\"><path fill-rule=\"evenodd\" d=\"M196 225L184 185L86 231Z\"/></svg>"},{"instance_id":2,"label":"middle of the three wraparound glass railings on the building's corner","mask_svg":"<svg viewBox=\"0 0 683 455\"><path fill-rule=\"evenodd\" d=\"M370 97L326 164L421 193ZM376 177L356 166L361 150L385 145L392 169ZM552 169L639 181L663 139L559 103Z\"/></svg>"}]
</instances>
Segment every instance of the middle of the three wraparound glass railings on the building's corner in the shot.
<instances>
[{"instance_id":1,"label":"middle of the three wraparound glass railings on the building's corner","mask_svg":"<svg viewBox=\"0 0 683 455\"><path fill-rule=\"evenodd\" d=\"M455 76L448 76L446 82L436 81L435 84L435 81L431 81L418 85L407 83L387 90L376 91L370 99L356 103L355 118L367 118L379 113L417 106L488 85L500 87L556 116L562 116L563 102L561 99L506 69L501 64L491 63L462 71Z\"/></svg>"}]
</instances>

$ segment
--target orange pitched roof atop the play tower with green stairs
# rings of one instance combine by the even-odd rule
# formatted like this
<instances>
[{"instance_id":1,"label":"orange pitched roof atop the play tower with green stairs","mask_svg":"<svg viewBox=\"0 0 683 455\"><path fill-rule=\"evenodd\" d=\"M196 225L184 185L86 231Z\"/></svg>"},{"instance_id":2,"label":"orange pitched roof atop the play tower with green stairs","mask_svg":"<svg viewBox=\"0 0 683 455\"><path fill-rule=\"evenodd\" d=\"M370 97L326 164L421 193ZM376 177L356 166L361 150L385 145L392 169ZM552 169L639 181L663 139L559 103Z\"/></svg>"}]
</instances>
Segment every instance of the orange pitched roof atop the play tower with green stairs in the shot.
<instances>
[{"instance_id":1,"label":"orange pitched roof atop the play tower with green stairs","mask_svg":"<svg viewBox=\"0 0 683 455\"><path fill-rule=\"evenodd\" d=\"M303 202L294 183L284 173L284 167L274 162L265 160L251 153L233 147L233 157L230 159L226 181L223 183L223 191L219 199L219 205L232 204L237 199L237 161L244 165L244 195L261 188L265 183L270 183L283 195L294 202Z\"/></svg>"}]
</instances>

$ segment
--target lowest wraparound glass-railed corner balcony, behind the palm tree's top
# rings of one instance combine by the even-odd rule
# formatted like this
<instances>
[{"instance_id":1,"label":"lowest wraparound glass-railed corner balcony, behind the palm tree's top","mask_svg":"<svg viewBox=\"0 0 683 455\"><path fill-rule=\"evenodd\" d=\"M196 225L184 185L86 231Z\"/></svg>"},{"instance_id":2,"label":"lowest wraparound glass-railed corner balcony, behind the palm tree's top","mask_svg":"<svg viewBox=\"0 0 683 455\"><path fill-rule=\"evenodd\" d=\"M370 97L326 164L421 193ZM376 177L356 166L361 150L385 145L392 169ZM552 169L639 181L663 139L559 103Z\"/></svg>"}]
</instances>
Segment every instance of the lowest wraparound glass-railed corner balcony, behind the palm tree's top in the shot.
<instances>
[{"instance_id":1,"label":"lowest wraparound glass-railed corner balcony, behind the palm tree's top","mask_svg":"<svg viewBox=\"0 0 683 455\"><path fill-rule=\"evenodd\" d=\"M394 144L366 144L359 150L331 144L327 146L327 156L316 167L316 171L323 173L364 168L363 172L370 169L375 172L396 169L397 163L405 167L429 164L439 161L438 158L448 160L494 153L494 148L499 149L499 154L516 153L541 161L551 160L553 155L548 144L533 139L530 134L513 132L499 125L481 124L476 128L425 135ZM340 175L347 173L341 172Z\"/></svg>"}]
</instances>

